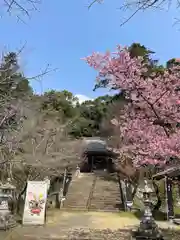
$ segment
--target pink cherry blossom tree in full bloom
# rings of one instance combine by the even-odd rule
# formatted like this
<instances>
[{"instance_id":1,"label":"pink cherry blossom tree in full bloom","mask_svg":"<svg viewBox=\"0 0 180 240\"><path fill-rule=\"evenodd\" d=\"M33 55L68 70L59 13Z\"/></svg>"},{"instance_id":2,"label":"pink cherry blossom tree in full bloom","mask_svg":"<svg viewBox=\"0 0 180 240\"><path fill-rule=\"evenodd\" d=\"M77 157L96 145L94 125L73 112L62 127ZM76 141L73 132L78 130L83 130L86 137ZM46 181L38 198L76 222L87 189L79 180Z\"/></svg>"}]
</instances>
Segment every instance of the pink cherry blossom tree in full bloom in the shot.
<instances>
[{"instance_id":1,"label":"pink cherry blossom tree in full bloom","mask_svg":"<svg viewBox=\"0 0 180 240\"><path fill-rule=\"evenodd\" d=\"M131 58L127 48L93 53L84 59L98 71L97 81L124 90L128 104L112 124L120 129L119 152L134 164L165 164L180 157L180 71L178 67L143 78L147 71L141 58Z\"/></svg>"}]
</instances>

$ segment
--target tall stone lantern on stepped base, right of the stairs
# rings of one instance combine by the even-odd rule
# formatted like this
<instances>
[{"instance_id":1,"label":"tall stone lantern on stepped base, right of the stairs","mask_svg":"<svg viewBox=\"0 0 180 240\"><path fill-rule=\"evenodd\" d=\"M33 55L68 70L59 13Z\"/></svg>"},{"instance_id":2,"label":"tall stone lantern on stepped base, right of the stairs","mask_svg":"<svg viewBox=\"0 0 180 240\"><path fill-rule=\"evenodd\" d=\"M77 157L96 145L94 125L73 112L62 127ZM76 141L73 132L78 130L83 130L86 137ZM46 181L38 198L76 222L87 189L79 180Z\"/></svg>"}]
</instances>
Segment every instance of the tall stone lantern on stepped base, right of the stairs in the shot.
<instances>
[{"instance_id":1,"label":"tall stone lantern on stepped base, right of the stairs","mask_svg":"<svg viewBox=\"0 0 180 240\"><path fill-rule=\"evenodd\" d=\"M147 180L144 181L144 188L140 190L143 194L144 215L141 219L140 226L132 233L133 238L137 240L163 240L161 231L152 216L151 195L154 189L149 186Z\"/></svg>"}]
</instances>

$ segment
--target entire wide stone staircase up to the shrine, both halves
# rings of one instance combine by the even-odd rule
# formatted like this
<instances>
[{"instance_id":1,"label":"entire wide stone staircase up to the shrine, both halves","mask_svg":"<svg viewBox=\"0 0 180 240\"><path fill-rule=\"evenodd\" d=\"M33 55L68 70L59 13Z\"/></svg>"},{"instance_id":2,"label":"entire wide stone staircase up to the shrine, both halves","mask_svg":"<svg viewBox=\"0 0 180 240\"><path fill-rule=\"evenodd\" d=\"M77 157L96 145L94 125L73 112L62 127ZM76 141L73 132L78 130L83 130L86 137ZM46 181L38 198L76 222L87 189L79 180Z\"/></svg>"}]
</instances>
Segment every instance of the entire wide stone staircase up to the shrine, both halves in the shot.
<instances>
[{"instance_id":1,"label":"entire wide stone staircase up to the shrine, both halves","mask_svg":"<svg viewBox=\"0 0 180 240\"><path fill-rule=\"evenodd\" d=\"M93 174L81 174L80 178L74 178L71 182L67 199L64 202L63 210L71 209L78 211L86 210L89 194L92 188ZM104 181L98 177L94 188L93 196L90 199L89 209L96 211L103 209L107 211L119 211L116 207L120 204L120 192L118 183Z\"/></svg>"}]
</instances>

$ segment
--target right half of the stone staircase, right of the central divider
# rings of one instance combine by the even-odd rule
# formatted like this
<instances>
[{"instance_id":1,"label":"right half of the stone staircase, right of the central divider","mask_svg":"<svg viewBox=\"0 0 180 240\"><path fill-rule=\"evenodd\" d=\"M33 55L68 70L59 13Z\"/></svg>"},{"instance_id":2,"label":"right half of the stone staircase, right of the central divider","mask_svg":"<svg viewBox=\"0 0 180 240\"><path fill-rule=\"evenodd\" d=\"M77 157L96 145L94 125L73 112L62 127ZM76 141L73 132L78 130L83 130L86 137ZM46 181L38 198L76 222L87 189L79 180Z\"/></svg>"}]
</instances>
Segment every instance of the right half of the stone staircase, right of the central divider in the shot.
<instances>
[{"instance_id":1,"label":"right half of the stone staircase, right of the central divider","mask_svg":"<svg viewBox=\"0 0 180 240\"><path fill-rule=\"evenodd\" d=\"M89 200L88 210L117 212L120 205L121 196L117 176L96 175L96 184Z\"/></svg>"}]
</instances>

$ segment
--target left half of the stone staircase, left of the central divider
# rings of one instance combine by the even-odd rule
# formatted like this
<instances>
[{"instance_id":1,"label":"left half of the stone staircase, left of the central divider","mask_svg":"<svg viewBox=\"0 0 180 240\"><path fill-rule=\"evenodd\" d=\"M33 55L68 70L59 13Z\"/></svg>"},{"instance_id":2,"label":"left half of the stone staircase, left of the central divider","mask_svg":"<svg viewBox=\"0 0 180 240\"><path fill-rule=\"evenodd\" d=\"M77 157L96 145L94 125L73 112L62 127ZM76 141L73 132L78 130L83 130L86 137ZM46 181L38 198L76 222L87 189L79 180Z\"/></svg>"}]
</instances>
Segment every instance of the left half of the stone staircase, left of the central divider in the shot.
<instances>
[{"instance_id":1,"label":"left half of the stone staircase, left of the central divider","mask_svg":"<svg viewBox=\"0 0 180 240\"><path fill-rule=\"evenodd\" d=\"M62 210L87 210L94 180L93 173L80 173L78 177L73 176Z\"/></svg>"}]
</instances>

